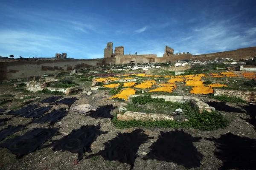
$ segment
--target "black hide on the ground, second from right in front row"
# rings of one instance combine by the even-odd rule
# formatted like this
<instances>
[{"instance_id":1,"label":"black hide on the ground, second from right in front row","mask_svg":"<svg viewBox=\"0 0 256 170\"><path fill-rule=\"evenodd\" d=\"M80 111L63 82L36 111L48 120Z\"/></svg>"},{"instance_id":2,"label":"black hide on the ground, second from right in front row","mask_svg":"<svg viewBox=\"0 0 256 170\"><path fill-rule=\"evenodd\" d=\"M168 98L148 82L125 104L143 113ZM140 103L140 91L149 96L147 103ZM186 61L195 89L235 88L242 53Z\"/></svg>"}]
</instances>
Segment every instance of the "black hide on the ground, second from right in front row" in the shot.
<instances>
[{"instance_id":1,"label":"black hide on the ground, second from right in front row","mask_svg":"<svg viewBox=\"0 0 256 170\"><path fill-rule=\"evenodd\" d=\"M159 161L174 162L186 168L200 167L203 155L198 152L192 142L200 142L201 137L192 137L183 130L160 132L157 142L149 148L150 152L143 157Z\"/></svg>"}]
</instances>

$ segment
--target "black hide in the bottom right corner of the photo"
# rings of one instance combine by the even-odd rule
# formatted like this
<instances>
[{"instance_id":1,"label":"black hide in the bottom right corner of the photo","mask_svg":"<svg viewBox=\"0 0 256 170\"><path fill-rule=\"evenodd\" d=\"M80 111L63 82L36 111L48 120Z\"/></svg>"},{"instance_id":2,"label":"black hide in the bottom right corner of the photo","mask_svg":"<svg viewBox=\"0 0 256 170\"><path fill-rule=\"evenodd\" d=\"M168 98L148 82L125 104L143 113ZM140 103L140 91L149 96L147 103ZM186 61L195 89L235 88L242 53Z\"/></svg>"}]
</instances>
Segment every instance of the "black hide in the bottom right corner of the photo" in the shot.
<instances>
[{"instance_id":1,"label":"black hide in the bottom right corner of the photo","mask_svg":"<svg viewBox=\"0 0 256 170\"><path fill-rule=\"evenodd\" d=\"M214 155L223 161L219 170L255 170L256 140L240 137L232 133L221 135L218 139L206 138L213 141L216 149Z\"/></svg>"}]
</instances>

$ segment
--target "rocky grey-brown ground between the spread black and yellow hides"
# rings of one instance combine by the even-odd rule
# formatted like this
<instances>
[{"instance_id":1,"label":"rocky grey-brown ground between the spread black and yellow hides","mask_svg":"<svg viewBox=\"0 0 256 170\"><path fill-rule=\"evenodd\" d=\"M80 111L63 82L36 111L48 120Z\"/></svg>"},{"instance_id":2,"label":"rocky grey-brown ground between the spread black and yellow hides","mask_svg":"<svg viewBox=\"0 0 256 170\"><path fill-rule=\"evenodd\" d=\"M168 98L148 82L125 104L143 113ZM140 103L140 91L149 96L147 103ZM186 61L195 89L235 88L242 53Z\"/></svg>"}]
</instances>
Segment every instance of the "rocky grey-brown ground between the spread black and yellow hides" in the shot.
<instances>
[{"instance_id":1,"label":"rocky grey-brown ground between the spread black and yellow hides","mask_svg":"<svg viewBox=\"0 0 256 170\"><path fill-rule=\"evenodd\" d=\"M123 102L120 99L109 99L111 94L109 92L111 89L99 89L96 91L91 90L92 77L119 77L117 74L151 74L151 75L175 75L175 71L191 71L189 70L191 66L180 66L169 67L168 64L161 65L160 68L151 68L149 70L131 70L127 65L123 70L115 70L111 69L111 66L91 68L81 70L80 74L70 75L70 72L49 75L49 77L55 77L56 79L61 80L63 77L69 77L73 79L73 82L77 83L81 87L81 91L76 93L71 93L69 95L64 95L64 98L69 97L77 97L77 100L71 107L81 104L90 104L95 107L112 104L117 108L111 111L112 115L116 115L119 111L119 105ZM222 65L223 66L223 65ZM122 69L122 66L120 66ZM223 68L225 68L223 66ZM118 69L118 68L117 68ZM194 71L194 70L193 70ZM195 71L194 71L195 72ZM239 75L239 77L211 77L209 73L221 73L225 72L225 70L216 70L213 68L212 70L201 70L201 72L197 71L196 73L205 73L207 77L203 77L203 80L209 81L209 83L222 83L227 84L228 87L240 90L240 91L256 91L253 86L245 86L244 82L250 80L249 78L243 77L241 71L233 71L235 74ZM253 72L252 72L253 73ZM86 80L84 79L86 77ZM41 77L42 79L44 77ZM88 78L88 79L87 79ZM163 77L137 77L137 82L142 82L143 80L156 80L157 82L166 82L169 78ZM27 104L40 104L41 106L46 106L47 104L41 104L40 101L46 99L50 96L57 96L54 94L42 94L40 92L31 93L26 91L26 86L20 85L14 87L14 84L29 82L32 79L21 80L20 82L4 82L0 84L0 109L6 109L6 111L0 115L0 119L2 118L11 118L12 115L6 115L5 113L9 110L15 110L17 108L21 108L26 106ZM39 80L37 80L39 81ZM218 99L214 99L209 95L199 95L199 94L191 94L191 86L185 86L184 82L177 82L177 89L175 89L172 93L168 92L159 92L154 94L164 94L164 95L172 95L172 96L194 96L202 101L218 101ZM137 89L138 91L142 89ZM149 89L143 90L144 94L149 91ZM90 92L90 93L88 93ZM15 98L16 97L16 98ZM19 97L19 98L18 98ZM23 99L20 99L24 97ZM26 100L26 101L25 101ZM233 103L227 102L228 105L236 108L240 108L239 105L247 105L247 103ZM83 116L77 112L71 111L67 105L54 105L53 108L66 108L69 112L67 116L53 125L54 127L58 127L61 135L54 136L52 139L60 139L61 137L69 134L73 129L79 129L81 125L98 125L100 123L102 131L108 131L107 134L100 135L95 142L91 145L91 149L93 153L99 152L99 150L104 149L104 144L108 140L116 137L118 132L131 132L135 130L137 127L130 128L118 128L113 125L111 119L94 119L89 116ZM178 108L177 108L178 109ZM218 167L222 165L222 161L215 158L213 151L215 150L214 142L208 141L204 138L220 137L221 134L225 134L231 132L238 136L247 136L251 139L256 139L256 130L254 126L246 122L244 119L249 118L249 115L246 113L230 113L220 111L220 113L229 120L229 124L227 128L220 128L214 131L208 130L198 130L194 128L183 128L186 133L191 134L194 137L202 137L200 142L193 143L197 150L204 155L201 160L201 166L192 169L200 169L200 170L217 170ZM244 118L244 119L241 119ZM0 130L6 128L8 125L25 125L31 121L30 118L23 117L13 117L11 120L6 122L6 125L0 126ZM26 131L32 130L35 127L49 127L49 123L44 124L36 124L32 123L26 126L26 130L19 131L17 133L8 136L6 139L13 138L17 135L22 135L26 133ZM174 162L166 162L166 161L157 161L157 160L143 160L141 159L145 153L149 152L149 146L157 141L158 135L160 135L160 131L171 131L175 130L175 128L164 128L164 127L141 127L145 133L149 136L153 136L154 139L149 139L149 141L145 144L141 144L140 148L137 152L139 157L136 159L134 164L134 170L185 170L186 168L182 165L178 165ZM178 128L182 129L182 128ZM5 139L5 140L6 140ZM4 140L4 141L5 141ZM3 142L4 142L3 141ZM46 142L46 143L49 143ZM85 153L84 155L90 155L92 153ZM120 163L119 161L106 161L101 156L93 157L92 159L82 159L77 165L74 165L74 161L77 159L77 154L70 153L68 151L53 151L51 147L44 148L41 150L36 150L35 152L29 153L26 156L23 156L21 159L16 159L16 156L11 153L10 150L6 148L0 148L0 169L2 170L76 170L76 169L87 169L87 170L100 170L100 169L109 169L109 170L128 170L130 165L125 163Z\"/></svg>"}]
</instances>

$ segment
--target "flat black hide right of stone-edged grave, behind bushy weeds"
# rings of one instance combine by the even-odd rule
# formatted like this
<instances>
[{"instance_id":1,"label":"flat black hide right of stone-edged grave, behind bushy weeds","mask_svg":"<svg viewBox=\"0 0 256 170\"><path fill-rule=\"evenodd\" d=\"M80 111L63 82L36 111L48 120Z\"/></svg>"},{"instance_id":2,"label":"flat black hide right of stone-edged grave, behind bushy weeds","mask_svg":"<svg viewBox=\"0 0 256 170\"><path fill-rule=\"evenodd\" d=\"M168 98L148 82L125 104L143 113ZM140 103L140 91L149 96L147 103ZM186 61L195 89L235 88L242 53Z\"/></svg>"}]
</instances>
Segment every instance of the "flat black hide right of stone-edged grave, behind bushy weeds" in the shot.
<instances>
[{"instance_id":1,"label":"flat black hide right of stone-edged grave, behind bushy weeds","mask_svg":"<svg viewBox=\"0 0 256 170\"><path fill-rule=\"evenodd\" d=\"M233 108L229 105L226 105L225 102L206 102L209 106L214 107L218 111L225 111L225 112L235 112L235 113L244 113L239 108Z\"/></svg>"}]
</instances>

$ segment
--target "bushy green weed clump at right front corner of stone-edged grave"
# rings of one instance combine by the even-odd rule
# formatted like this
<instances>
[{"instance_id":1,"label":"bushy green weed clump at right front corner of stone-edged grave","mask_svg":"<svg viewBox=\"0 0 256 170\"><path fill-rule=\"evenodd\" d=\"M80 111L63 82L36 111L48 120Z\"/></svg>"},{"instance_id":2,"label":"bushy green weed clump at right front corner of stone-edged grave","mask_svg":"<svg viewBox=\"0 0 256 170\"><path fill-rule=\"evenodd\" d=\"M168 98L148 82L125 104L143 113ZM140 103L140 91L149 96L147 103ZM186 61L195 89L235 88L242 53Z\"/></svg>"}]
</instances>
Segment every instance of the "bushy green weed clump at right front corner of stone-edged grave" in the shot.
<instances>
[{"instance_id":1,"label":"bushy green weed clump at right front corner of stone-edged grave","mask_svg":"<svg viewBox=\"0 0 256 170\"><path fill-rule=\"evenodd\" d=\"M189 119L191 126L200 130L216 130L227 127L228 121L224 116L217 112L203 111L203 113L196 113Z\"/></svg>"}]
</instances>

